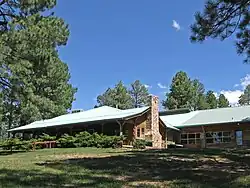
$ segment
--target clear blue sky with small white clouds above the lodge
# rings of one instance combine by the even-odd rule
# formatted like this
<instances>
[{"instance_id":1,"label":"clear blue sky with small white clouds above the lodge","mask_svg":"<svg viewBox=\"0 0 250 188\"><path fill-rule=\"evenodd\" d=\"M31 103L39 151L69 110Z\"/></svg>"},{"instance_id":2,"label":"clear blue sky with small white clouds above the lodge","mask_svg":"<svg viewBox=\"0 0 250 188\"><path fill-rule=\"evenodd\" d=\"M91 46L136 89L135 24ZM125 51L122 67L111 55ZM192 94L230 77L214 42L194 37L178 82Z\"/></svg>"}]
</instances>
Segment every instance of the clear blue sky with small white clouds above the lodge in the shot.
<instances>
[{"instance_id":1,"label":"clear blue sky with small white clouds above the lodge","mask_svg":"<svg viewBox=\"0 0 250 188\"><path fill-rule=\"evenodd\" d=\"M56 15L70 28L59 53L78 87L73 108L92 108L96 96L119 80L128 85L139 79L163 98L180 70L234 103L250 83L250 65L236 54L234 38L189 41L194 13L203 6L204 1L181 0L58 1Z\"/></svg>"}]
</instances>

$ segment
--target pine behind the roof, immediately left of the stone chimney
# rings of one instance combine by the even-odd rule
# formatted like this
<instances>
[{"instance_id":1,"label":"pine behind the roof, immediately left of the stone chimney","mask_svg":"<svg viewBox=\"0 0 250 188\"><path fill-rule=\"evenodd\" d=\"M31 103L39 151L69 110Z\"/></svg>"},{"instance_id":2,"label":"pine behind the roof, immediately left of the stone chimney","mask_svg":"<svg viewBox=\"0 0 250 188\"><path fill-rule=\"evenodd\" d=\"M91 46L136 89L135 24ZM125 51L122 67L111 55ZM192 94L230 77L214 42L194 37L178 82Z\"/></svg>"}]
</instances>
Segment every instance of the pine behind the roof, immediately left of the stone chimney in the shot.
<instances>
[{"instance_id":1,"label":"pine behind the roof, immediately left of the stone chimney","mask_svg":"<svg viewBox=\"0 0 250 188\"><path fill-rule=\"evenodd\" d=\"M139 80L131 84L129 93L133 98L135 108L149 105L148 89Z\"/></svg>"}]
</instances>

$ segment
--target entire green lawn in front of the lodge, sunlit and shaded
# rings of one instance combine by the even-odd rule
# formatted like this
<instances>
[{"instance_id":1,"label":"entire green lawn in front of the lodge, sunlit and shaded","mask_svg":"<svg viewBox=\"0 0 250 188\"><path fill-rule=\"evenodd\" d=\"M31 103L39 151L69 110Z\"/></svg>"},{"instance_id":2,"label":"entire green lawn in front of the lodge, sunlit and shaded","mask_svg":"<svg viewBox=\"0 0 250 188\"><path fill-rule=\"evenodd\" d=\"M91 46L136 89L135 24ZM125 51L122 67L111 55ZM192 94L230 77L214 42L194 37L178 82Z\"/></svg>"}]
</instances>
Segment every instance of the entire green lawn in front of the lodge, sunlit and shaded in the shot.
<instances>
[{"instance_id":1,"label":"entire green lawn in front of the lodge, sunlit and shaded","mask_svg":"<svg viewBox=\"0 0 250 188\"><path fill-rule=\"evenodd\" d=\"M250 187L250 151L71 148L0 152L0 187Z\"/></svg>"}]
</instances>

